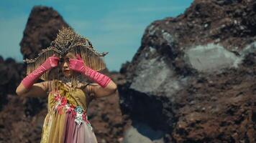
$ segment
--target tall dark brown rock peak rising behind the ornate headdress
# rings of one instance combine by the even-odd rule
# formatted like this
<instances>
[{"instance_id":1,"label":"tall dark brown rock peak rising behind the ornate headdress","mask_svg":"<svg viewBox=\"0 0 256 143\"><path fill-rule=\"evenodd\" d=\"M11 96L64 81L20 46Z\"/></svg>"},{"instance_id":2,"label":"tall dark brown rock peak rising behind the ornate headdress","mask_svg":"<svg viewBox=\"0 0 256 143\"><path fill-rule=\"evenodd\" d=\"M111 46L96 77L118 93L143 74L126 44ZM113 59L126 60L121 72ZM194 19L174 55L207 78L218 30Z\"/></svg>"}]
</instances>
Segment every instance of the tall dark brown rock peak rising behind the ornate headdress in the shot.
<instances>
[{"instance_id":1,"label":"tall dark brown rock peak rising behind the ornate headdress","mask_svg":"<svg viewBox=\"0 0 256 143\"><path fill-rule=\"evenodd\" d=\"M41 49L50 46L50 42L56 38L58 30L63 26L68 24L51 7L33 7L19 44L23 59L34 59Z\"/></svg>"}]
</instances>

